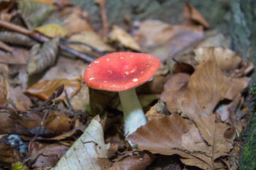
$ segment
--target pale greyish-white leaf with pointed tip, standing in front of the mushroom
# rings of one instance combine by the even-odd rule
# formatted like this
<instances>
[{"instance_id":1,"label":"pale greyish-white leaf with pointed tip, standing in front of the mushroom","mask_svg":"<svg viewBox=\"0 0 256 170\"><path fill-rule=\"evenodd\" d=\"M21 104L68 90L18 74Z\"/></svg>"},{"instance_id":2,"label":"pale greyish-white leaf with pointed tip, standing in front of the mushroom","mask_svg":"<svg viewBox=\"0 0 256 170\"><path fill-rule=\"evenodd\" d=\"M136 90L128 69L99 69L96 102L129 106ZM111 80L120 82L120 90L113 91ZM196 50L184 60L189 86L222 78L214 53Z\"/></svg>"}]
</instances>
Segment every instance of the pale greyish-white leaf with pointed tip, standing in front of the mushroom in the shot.
<instances>
[{"instance_id":1,"label":"pale greyish-white leaf with pointed tip, standing in front of the mushroom","mask_svg":"<svg viewBox=\"0 0 256 170\"><path fill-rule=\"evenodd\" d=\"M108 169L110 166L107 159L108 149L110 144L105 144L100 123L92 119L85 132L53 169Z\"/></svg>"}]
</instances>

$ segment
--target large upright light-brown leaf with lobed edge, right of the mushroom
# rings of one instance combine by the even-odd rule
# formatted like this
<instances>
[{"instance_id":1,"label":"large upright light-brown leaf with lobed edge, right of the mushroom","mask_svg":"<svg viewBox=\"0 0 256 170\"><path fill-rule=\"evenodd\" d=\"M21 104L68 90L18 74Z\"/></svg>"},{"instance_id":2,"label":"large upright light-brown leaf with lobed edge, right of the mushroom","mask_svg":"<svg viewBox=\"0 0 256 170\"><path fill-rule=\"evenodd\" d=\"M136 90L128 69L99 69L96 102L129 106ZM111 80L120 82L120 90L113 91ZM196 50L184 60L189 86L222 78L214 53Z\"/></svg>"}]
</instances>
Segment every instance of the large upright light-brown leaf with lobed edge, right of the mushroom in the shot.
<instances>
[{"instance_id":1,"label":"large upright light-brown leaf with lobed edge, right of the mushroom","mask_svg":"<svg viewBox=\"0 0 256 170\"><path fill-rule=\"evenodd\" d=\"M188 83L181 103L182 114L196 123L209 145L213 145L215 134L215 106L223 98L233 100L240 94L235 80L226 77L214 60L208 60L198 65Z\"/></svg>"}]
</instances>

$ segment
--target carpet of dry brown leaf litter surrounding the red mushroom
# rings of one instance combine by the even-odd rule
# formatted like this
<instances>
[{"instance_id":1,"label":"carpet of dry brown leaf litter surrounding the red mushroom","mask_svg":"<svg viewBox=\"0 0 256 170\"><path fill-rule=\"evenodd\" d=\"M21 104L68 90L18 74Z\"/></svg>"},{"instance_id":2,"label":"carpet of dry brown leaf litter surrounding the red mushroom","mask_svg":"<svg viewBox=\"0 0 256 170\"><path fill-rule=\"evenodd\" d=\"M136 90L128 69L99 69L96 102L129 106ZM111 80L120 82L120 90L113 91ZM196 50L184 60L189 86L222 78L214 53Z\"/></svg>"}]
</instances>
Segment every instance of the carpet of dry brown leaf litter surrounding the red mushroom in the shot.
<instances>
[{"instance_id":1,"label":"carpet of dry brown leaf litter surrounding the red mushroom","mask_svg":"<svg viewBox=\"0 0 256 170\"><path fill-rule=\"evenodd\" d=\"M102 30L94 30L86 11L68 1L18 1L11 10L19 9L20 17L1 9L6 15L0 21L1 167L22 162L23 169L225 169L235 164L229 157L245 128L253 64L229 50L228 38L210 30L191 4L184 4L183 24L146 20L130 32L120 26L108 30L105 1L95 3ZM117 94L89 89L81 78L87 62L120 50L149 53L162 62L153 81L137 88L149 121L128 137ZM164 155L176 161L166 164Z\"/></svg>"}]
</instances>

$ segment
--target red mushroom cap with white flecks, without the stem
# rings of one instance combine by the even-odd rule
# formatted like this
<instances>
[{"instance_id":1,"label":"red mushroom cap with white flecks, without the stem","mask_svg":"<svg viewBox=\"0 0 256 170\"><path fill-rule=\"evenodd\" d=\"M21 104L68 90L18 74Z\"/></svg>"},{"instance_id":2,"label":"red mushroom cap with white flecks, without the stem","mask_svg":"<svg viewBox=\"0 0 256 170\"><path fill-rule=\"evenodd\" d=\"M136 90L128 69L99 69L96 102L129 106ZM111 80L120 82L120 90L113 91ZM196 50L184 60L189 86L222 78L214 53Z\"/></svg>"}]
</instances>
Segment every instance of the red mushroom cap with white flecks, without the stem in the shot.
<instances>
[{"instance_id":1,"label":"red mushroom cap with white flecks, without the stem","mask_svg":"<svg viewBox=\"0 0 256 170\"><path fill-rule=\"evenodd\" d=\"M125 91L148 81L160 67L153 55L137 52L114 52L93 61L84 73L92 89Z\"/></svg>"}]
</instances>

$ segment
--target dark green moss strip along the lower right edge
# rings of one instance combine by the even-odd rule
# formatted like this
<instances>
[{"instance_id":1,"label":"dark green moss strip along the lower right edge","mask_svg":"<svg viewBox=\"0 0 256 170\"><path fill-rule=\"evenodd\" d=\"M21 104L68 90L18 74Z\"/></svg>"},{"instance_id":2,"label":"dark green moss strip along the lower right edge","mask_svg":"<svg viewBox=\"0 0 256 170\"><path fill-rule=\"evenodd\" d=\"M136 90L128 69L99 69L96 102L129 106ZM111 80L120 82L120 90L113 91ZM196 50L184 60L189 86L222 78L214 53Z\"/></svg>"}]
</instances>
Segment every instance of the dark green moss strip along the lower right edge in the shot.
<instances>
[{"instance_id":1,"label":"dark green moss strip along the lower right edge","mask_svg":"<svg viewBox=\"0 0 256 170\"><path fill-rule=\"evenodd\" d=\"M252 97L253 113L243 132L245 142L243 142L242 154L240 157L240 169L256 169L256 80L252 83L250 94Z\"/></svg>"}]
</instances>

